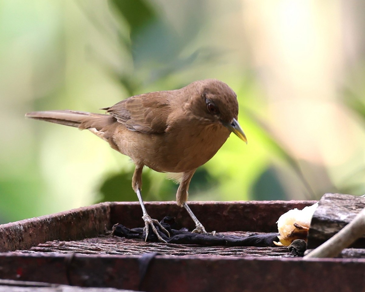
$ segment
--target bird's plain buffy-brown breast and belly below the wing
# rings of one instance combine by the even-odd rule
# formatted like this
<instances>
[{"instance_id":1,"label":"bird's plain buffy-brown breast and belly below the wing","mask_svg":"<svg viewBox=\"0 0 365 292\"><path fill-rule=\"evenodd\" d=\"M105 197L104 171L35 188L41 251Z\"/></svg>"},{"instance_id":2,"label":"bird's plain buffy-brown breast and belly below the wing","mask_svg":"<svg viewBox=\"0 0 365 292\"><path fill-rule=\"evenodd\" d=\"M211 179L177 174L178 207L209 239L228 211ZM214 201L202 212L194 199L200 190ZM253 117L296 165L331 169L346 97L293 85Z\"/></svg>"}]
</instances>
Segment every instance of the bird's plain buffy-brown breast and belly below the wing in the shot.
<instances>
[{"instance_id":1,"label":"bird's plain buffy-brown breast and belly below the wing","mask_svg":"<svg viewBox=\"0 0 365 292\"><path fill-rule=\"evenodd\" d=\"M210 160L229 135L230 131L220 124L172 127L162 134L145 134L119 126L113 140L119 152L137 165L158 172L186 172Z\"/></svg>"}]
</instances>

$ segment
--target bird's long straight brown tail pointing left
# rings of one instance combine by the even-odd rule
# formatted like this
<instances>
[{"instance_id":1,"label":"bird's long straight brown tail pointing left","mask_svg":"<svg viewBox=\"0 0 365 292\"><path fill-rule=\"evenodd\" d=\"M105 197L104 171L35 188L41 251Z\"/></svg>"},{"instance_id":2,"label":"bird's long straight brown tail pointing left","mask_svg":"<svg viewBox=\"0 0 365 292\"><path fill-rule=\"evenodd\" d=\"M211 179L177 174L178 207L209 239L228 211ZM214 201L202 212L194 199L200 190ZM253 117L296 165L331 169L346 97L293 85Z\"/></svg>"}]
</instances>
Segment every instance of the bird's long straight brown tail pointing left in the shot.
<instances>
[{"instance_id":1,"label":"bird's long straight brown tail pointing left","mask_svg":"<svg viewBox=\"0 0 365 292\"><path fill-rule=\"evenodd\" d=\"M96 128L98 131L113 122L114 119L111 115L70 110L28 112L25 116L31 119L77 127L81 130Z\"/></svg>"}]
</instances>

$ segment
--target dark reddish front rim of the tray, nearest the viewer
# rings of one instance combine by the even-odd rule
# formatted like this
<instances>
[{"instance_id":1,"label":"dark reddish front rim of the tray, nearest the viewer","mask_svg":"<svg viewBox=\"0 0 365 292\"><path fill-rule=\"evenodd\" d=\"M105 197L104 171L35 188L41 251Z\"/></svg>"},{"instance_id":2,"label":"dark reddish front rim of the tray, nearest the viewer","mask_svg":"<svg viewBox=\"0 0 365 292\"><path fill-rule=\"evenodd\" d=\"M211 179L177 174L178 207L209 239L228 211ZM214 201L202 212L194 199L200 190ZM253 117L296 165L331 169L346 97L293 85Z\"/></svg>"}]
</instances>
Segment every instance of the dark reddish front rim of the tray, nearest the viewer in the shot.
<instances>
[{"instance_id":1,"label":"dark reddish front rim of the tray, nearest the viewer","mask_svg":"<svg viewBox=\"0 0 365 292\"><path fill-rule=\"evenodd\" d=\"M365 259L0 254L0 278L141 291L365 291Z\"/></svg>"}]
</instances>

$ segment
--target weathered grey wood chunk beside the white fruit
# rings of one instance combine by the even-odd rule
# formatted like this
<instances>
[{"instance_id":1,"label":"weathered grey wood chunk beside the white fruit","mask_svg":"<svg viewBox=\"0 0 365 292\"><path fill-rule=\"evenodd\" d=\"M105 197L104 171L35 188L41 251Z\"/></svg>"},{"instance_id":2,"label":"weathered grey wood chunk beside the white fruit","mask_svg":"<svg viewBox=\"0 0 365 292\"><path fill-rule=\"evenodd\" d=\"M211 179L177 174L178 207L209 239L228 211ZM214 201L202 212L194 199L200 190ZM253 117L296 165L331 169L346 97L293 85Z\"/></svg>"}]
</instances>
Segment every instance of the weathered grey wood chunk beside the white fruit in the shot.
<instances>
[{"instance_id":1,"label":"weathered grey wood chunk beside the white fruit","mask_svg":"<svg viewBox=\"0 0 365 292\"><path fill-rule=\"evenodd\" d=\"M328 193L319 200L307 236L307 248L314 249L333 237L365 208L365 198ZM365 234L353 247L365 247Z\"/></svg>"}]
</instances>

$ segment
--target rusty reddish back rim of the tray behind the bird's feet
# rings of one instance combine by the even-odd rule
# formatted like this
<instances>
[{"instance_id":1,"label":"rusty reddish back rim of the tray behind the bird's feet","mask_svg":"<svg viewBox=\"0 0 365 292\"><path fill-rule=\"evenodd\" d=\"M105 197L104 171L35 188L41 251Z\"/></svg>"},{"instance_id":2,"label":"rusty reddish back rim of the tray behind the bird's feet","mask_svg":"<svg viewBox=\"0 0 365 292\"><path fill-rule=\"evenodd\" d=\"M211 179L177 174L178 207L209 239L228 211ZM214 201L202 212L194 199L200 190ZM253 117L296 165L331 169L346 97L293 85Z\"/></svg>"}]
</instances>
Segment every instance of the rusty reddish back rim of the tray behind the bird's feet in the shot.
<instances>
[{"instance_id":1,"label":"rusty reddish back rim of the tray behind the bird's feet","mask_svg":"<svg viewBox=\"0 0 365 292\"><path fill-rule=\"evenodd\" d=\"M285 212L303 209L316 201L189 201L207 231L254 231L276 232L276 221ZM161 220L165 216L176 218L180 227L193 230L195 225L184 208L176 202L145 202L148 214ZM120 223L128 228L143 227L142 211L138 202L111 203L111 223Z\"/></svg>"}]
</instances>

